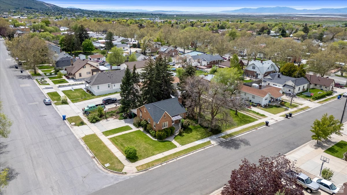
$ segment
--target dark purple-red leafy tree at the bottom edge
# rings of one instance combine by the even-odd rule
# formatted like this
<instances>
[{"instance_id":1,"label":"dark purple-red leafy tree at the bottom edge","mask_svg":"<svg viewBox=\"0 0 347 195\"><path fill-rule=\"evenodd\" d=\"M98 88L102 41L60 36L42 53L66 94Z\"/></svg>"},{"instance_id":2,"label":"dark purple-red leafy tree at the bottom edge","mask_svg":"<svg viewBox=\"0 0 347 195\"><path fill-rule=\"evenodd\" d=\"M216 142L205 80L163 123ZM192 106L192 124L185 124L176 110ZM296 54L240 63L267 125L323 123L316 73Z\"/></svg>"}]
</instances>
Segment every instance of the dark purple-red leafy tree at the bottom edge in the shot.
<instances>
[{"instance_id":1,"label":"dark purple-red leafy tree at the bottom edge","mask_svg":"<svg viewBox=\"0 0 347 195\"><path fill-rule=\"evenodd\" d=\"M267 158L261 156L259 165L242 160L238 169L232 170L230 180L221 194L284 194L303 195L301 185L296 183L296 175L288 170L296 170L294 162L277 154Z\"/></svg>"}]
</instances>

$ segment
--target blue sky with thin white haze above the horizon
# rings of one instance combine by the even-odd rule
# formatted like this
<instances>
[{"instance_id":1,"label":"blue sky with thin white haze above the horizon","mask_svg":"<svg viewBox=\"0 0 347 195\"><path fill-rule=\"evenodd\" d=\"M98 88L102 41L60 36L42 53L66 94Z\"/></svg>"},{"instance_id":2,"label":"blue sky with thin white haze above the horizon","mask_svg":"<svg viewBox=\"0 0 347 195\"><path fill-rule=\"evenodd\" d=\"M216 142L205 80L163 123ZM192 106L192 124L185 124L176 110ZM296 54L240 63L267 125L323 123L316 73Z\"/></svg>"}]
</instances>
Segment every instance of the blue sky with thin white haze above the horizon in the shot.
<instances>
[{"instance_id":1,"label":"blue sky with thin white haze above the horizon","mask_svg":"<svg viewBox=\"0 0 347 195\"><path fill-rule=\"evenodd\" d=\"M59 7L76 7L89 10L180 10L223 11L240 8L291 7L295 9L320 9L347 7L346 0L41 0Z\"/></svg>"}]
</instances>

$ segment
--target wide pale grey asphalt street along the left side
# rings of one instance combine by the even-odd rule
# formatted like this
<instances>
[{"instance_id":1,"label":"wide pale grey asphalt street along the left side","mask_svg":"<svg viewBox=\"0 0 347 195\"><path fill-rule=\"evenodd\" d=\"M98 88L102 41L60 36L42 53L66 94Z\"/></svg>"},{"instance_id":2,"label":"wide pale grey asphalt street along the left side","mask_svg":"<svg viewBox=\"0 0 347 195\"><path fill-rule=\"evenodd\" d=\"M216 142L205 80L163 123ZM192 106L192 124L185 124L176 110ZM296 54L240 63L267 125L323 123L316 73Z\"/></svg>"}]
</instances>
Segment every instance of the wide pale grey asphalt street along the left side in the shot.
<instances>
[{"instance_id":1,"label":"wide pale grey asphalt street along the left side","mask_svg":"<svg viewBox=\"0 0 347 195\"><path fill-rule=\"evenodd\" d=\"M0 98L13 120L0 140L0 168L10 169L1 194L89 194L128 176L99 169L44 94L0 43ZM28 51L29 52L29 51Z\"/></svg>"}]
</instances>

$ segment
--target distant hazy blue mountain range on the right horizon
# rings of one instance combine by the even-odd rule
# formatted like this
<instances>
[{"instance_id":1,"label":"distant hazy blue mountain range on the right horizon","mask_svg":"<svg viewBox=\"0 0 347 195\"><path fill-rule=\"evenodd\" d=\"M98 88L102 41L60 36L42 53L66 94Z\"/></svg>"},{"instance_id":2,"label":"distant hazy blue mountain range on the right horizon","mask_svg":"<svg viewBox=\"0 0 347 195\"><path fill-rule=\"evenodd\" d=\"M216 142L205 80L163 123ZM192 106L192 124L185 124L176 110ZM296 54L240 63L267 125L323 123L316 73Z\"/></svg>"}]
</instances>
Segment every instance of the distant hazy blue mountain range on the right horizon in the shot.
<instances>
[{"instance_id":1,"label":"distant hazy blue mountain range on the right horizon","mask_svg":"<svg viewBox=\"0 0 347 195\"><path fill-rule=\"evenodd\" d=\"M270 13L270 14L347 14L345 8L322 8L322 9L294 9L290 7L260 7L242 8L236 10L220 11L223 13Z\"/></svg>"}]
</instances>

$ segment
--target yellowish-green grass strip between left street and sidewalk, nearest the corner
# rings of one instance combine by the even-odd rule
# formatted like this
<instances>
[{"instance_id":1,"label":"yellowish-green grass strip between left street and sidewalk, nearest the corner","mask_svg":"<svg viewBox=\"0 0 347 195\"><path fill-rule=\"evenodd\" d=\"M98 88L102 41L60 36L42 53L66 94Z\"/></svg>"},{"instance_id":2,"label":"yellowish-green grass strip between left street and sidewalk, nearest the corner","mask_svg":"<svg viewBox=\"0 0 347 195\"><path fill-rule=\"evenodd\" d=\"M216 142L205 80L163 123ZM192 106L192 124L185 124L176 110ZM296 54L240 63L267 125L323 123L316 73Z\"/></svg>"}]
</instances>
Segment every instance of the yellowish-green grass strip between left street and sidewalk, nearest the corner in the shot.
<instances>
[{"instance_id":1,"label":"yellowish-green grass strip between left street and sidewalk, nearest the corner","mask_svg":"<svg viewBox=\"0 0 347 195\"><path fill-rule=\"evenodd\" d=\"M107 168L114 171L121 172L124 168L124 164L111 152L111 150L101 141L101 139L95 135L86 135L82 137L84 143L93 152L95 157L100 161L102 166L109 163Z\"/></svg>"}]
</instances>

